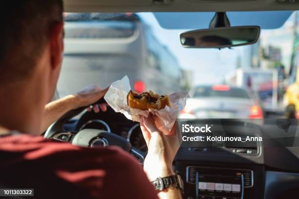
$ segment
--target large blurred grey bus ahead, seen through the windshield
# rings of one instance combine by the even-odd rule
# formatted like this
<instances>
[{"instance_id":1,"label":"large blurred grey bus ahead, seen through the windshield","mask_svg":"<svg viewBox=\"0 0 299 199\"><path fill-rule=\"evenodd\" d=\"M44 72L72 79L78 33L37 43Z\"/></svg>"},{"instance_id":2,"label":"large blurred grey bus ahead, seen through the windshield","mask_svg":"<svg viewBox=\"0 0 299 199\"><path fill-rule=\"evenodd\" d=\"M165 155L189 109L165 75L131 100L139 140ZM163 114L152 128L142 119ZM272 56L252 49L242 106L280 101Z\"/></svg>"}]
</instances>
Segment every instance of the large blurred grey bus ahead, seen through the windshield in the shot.
<instances>
[{"instance_id":1,"label":"large blurred grey bus ahead, seen through the windshield","mask_svg":"<svg viewBox=\"0 0 299 199\"><path fill-rule=\"evenodd\" d=\"M137 14L66 13L64 23L59 97L87 85L104 88L126 75L138 93L181 90L178 60Z\"/></svg>"}]
</instances>

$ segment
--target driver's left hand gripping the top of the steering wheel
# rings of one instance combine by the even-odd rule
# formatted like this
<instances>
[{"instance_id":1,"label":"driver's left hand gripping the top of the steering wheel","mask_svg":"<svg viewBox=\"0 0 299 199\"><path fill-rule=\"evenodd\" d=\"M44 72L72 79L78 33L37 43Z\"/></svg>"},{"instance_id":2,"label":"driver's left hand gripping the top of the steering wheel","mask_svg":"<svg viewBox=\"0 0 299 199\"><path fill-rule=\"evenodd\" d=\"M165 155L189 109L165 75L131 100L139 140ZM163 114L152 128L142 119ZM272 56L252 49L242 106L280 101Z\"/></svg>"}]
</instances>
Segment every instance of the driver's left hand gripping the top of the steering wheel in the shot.
<instances>
[{"instance_id":1,"label":"driver's left hand gripping the top of the steering wheel","mask_svg":"<svg viewBox=\"0 0 299 199\"><path fill-rule=\"evenodd\" d=\"M77 109L80 107L88 106L89 104L94 104L99 99L103 98L107 93L109 87L105 89L101 89L98 86L87 86L83 90L79 91L76 94L71 95L74 97L74 107L73 109ZM99 113L100 110L107 111L107 103L102 104L94 104L87 108L87 111L94 111L95 113Z\"/></svg>"}]
</instances>

